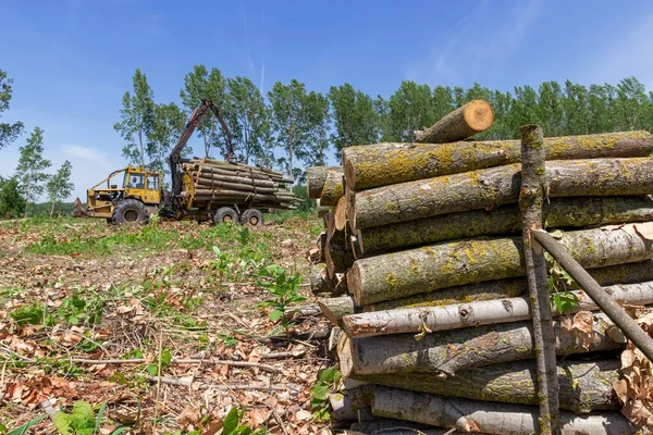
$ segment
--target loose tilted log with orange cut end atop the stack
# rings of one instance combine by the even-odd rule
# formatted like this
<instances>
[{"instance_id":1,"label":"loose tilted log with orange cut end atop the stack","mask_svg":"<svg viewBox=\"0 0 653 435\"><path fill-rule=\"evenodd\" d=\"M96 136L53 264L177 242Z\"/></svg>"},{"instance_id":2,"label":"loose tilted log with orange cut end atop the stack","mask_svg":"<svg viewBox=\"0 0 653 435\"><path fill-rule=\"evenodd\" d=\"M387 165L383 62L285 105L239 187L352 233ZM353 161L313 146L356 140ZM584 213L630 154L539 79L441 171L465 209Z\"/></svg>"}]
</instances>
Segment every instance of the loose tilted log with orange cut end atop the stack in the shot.
<instances>
[{"instance_id":1,"label":"loose tilted log with orange cut end atop the stack","mask_svg":"<svg viewBox=\"0 0 653 435\"><path fill-rule=\"evenodd\" d=\"M471 100L454 110L432 127L416 132L415 141L445 144L467 139L486 130L494 123L494 109L485 100Z\"/></svg>"}]
</instances>

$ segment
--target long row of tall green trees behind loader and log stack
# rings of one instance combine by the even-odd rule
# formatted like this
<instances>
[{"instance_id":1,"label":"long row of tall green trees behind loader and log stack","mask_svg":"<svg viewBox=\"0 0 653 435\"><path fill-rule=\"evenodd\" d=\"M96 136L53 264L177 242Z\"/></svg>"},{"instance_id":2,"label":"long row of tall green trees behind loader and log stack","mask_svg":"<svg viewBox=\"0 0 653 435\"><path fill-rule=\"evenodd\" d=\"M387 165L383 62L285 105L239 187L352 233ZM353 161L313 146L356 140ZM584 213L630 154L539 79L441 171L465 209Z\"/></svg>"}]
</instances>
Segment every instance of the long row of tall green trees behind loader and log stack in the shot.
<instances>
[{"instance_id":1,"label":"long row of tall green trees behind loader and log stack","mask_svg":"<svg viewBox=\"0 0 653 435\"><path fill-rule=\"evenodd\" d=\"M123 96L121 120L114 125L125 139L123 156L167 172L165 158L201 99L220 107L241 161L278 166L299 181L306 166L325 164L331 152L340 158L352 145L411 141L416 130L473 99L490 101L496 114L479 139L517 138L519 126L529 123L542 125L546 136L653 130L653 92L646 94L634 77L617 85L545 82L508 91L478 83L463 88L404 80L389 98L372 97L347 83L326 94L309 91L292 79L275 83L263 96L247 77L224 77L215 67L195 65L184 77L181 105L156 103L146 75L136 70L133 90ZM206 157L224 154L225 135L212 116L201 120L198 132Z\"/></svg>"}]
</instances>

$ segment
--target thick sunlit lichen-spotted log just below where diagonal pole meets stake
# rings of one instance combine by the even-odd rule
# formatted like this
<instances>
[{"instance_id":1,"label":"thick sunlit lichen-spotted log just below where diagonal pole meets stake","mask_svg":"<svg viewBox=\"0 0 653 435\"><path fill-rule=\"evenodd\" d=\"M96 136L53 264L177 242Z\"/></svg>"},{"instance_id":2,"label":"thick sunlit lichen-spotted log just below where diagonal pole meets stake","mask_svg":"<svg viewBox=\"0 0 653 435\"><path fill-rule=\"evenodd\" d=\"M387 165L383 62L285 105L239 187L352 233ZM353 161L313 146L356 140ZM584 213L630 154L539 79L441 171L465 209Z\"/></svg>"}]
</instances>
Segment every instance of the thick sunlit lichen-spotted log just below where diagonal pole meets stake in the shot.
<instances>
[{"instance_id":1,"label":"thick sunlit lichen-spotted log just below where diagonal pole meets stake","mask_svg":"<svg viewBox=\"0 0 653 435\"><path fill-rule=\"evenodd\" d=\"M632 225L642 233L653 231L653 222L627 224L624 229L581 229L564 233L560 243L584 269L651 260L653 245L633 237ZM523 275L521 237L473 239L356 260L347 273L347 287L356 303L365 306Z\"/></svg>"}]
</instances>

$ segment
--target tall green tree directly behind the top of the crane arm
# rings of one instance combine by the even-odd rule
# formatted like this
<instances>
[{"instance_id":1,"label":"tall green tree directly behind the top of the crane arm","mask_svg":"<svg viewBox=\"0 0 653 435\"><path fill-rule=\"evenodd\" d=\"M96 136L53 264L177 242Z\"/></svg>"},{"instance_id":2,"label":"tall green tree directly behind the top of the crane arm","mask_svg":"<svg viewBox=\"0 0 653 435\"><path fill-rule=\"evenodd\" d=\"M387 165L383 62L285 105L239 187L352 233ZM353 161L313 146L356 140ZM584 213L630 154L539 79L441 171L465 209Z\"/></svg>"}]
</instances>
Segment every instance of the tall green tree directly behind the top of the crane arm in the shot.
<instances>
[{"instance_id":1,"label":"tall green tree directly behind the top of the crane arm","mask_svg":"<svg viewBox=\"0 0 653 435\"><path fill-rule=\"evenodd\" d=\"M195 65L193 72L184 77L184 88L180 97L188 113L193 112L201 100L211 100L221 111L226 109L226 82L218 69L209 72L205 65ZM222 114L229 117L227 113ZM204 140L205 156L211 156L211 148L221 147L224 151L226 139L224 133L218 127L218 121L208 113L199 122L197 129Z\"/></svg>"}]
</instances>

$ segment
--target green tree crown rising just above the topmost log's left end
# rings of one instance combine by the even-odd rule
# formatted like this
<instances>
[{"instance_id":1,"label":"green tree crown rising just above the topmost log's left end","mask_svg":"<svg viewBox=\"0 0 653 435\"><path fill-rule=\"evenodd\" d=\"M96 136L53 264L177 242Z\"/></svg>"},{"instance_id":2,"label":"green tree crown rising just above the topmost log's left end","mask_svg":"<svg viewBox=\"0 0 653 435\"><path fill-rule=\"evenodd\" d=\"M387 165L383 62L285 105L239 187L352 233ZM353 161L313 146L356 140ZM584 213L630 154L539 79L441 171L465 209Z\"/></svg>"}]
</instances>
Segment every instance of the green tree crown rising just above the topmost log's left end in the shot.
<instances>
[{"instance_id":1,"label":"green tree crown rising just above the topmost log's left end","mask_svg":"<svg viewBox=\"0 0 653 435\"><path fill-rule=\"evenodd\" d=\"M416 130L434 122L431 88L415 82L402 82L399 88L390 97L392 136L402 141L412 141Z\"/></svg>"}]
</instances>

